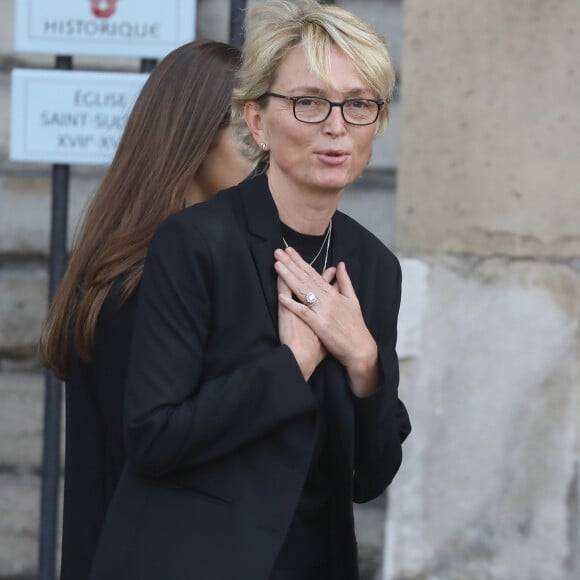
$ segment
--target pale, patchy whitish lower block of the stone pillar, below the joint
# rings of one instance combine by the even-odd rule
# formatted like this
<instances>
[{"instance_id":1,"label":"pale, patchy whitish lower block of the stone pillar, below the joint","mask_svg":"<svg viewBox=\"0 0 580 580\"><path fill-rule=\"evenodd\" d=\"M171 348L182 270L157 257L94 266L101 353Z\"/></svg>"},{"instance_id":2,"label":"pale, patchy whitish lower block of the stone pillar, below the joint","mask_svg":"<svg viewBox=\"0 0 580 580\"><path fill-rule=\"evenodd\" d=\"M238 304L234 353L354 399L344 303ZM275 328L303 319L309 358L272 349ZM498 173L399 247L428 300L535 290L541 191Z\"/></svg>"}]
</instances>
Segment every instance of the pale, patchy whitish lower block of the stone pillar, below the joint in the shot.
<instances>
[{"instance_id":1,"label":"pale, patchy whitish lower block of the stone pillar, below the joint","mask_svg":"<svg viewBox=\"0 0 580 580\"><path fill-rule=\"evenodd\" d=\"M441 259L429 280L385 580L577 578L580 274Z\"/></svg>"}]
</instances>

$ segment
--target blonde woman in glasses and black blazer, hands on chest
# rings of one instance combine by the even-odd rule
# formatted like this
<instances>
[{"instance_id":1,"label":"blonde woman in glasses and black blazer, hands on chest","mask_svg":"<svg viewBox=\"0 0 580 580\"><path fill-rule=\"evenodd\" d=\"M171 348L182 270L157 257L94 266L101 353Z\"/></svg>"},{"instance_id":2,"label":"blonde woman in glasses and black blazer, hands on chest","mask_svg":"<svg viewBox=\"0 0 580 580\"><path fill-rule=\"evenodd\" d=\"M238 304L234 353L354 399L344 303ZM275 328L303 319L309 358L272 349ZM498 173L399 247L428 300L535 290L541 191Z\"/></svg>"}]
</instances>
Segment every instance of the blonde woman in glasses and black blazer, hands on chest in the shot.
<instances>
[{"instance_id":1,"label":"blonde woman in glasses and black blazer, hands on chest","mask_svg":"<svg viewBox=\"0 0 580 580\"><path fill-rule=\"evenodd\" d=\"M233 128L260 171L152 240L93 580L354 580L352 502L410 431L399 262L337 209L387 121L387 49L313 1L246 34Z\"/></svg>"}]
</instances>

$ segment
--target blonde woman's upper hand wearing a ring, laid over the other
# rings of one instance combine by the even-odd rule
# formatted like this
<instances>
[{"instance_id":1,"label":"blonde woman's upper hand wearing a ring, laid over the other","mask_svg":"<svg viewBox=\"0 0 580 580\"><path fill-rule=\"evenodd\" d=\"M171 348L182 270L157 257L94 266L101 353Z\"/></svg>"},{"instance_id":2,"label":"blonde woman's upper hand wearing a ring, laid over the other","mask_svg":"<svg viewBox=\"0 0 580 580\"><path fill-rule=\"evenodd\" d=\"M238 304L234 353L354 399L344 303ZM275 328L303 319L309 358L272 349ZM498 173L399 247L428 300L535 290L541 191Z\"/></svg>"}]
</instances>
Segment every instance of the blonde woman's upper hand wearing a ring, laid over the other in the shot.
<instances>
[{"instance_id":1,"label":"blonde woman's upper hand wearing a ring, laid over the other","mask_svg":"<svg viewBox=\"0 0 580 580\"><path fill-rule=\"evenodd\" d=\"M372 394L378 382L378 351L367 328L344 262L336 267L336 282L328 283L293 248L274 252L278 276L301 302L279 294L282 306L301 318L326 350L346 367L355 395ZM314 293L316 302L306 305Z\"/></svg>"}]
</instances>

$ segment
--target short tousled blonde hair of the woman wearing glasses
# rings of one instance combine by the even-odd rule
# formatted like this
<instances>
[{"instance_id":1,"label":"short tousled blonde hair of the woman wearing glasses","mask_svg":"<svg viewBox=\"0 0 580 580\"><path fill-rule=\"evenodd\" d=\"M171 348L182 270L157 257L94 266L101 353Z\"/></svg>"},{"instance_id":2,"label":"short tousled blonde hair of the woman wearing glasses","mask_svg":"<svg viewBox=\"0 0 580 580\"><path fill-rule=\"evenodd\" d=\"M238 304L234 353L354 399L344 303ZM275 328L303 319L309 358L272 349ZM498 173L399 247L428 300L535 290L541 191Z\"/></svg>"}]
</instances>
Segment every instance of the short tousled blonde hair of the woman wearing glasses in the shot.
<instances>
[{"instance_id":1,"label":"short tousled blonde hair of the woman wearing glasses","mask_svg":"<svg viewBox=\"0 0 580 580\"><path fill-rule=\"evenodd\" d=\"M335 86L330 71L333 46L338 47L355 70L384 99L377 134L388 122L388 103L395 87L395 71L383 37L360 18L339 6L303 0L268 0L250 10L244 23L239 83L232 96L232 129L246 157L267 161L268 152L258 147L244 120L244 106L270 90L278 67L290 50L302 45L312 72Z\"/></svg>"}]
</instances>

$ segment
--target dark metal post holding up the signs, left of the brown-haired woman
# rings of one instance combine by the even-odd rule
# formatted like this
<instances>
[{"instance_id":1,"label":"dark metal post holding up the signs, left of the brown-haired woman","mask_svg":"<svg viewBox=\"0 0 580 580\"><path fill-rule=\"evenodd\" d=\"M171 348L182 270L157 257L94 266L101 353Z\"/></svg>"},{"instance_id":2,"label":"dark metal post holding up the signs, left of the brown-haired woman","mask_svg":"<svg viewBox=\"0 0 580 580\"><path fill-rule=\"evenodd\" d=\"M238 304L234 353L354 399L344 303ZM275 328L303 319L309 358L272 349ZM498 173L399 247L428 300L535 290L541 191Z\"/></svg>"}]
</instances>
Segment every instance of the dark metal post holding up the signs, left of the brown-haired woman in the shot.
<instances>
[{"instance_id":1,"label":"dark metal post holding up the signs, left of the brown-haired woman","mask_svg":"<svg viewBox=\"0 0 580 580\"><path fill-rule=\"evenodd\" d=\"M70 70L72 57L57 56L55 68ZM53 165L52 167L49 302L54 298L66 267L69 170L69 165ZM42 439L38 580L53 580L56 574L61 401L62 384L51 372L47 372L45 375L44 433Z\"/></svg>"}]
</instances>

